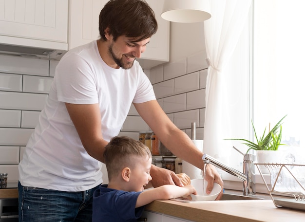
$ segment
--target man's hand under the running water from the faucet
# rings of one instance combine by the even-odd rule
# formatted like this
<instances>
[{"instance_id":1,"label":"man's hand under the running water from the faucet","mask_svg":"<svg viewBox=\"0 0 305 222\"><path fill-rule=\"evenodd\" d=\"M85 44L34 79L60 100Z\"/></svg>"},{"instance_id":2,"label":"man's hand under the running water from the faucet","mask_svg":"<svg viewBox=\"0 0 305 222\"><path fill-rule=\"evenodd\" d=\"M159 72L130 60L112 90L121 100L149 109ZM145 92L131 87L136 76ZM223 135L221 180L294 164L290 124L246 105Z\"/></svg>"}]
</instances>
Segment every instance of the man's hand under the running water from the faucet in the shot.
<instances>
[{"instance_id":1,"label":"man's hand under the running water from the faucet","mask_svg":"<svg viewBox=\"0 0 305 222\"><path fill-rule=\"evenodd\" d=\"M208 182L207 191L206 191L207 194L210 194L210 192L212 191L214 183L219 184L221 186L222 190L224 189L224 182L220 178L220 175L218 174L215 167L211 164L207 164L205 180ZM223 192L220 192L216 198L216 201L220 200L222 198L222 195L223 195Z\"/></svg>"}]
</instances>

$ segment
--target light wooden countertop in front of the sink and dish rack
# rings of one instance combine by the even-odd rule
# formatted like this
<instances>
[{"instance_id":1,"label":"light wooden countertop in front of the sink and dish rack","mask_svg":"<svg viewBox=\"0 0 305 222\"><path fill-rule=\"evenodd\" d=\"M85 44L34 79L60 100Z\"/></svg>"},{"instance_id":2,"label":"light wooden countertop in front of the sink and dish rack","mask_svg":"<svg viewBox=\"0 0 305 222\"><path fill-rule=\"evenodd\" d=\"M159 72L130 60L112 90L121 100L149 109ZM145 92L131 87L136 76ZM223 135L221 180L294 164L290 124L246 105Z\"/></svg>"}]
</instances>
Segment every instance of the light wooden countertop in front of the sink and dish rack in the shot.
<instances>
[{"instance_id":1,"label":"light wooden countertop in front of the sink and dish rack","mask_svg":"<svg viewBox=\"0 0 305 222\"><path fill-rule=\"evenodd\" d=\"M272 200L180 203L154 201L146 210L195 222L304 222L305 211L277 208Z\"/></svg>"}]
</instances>

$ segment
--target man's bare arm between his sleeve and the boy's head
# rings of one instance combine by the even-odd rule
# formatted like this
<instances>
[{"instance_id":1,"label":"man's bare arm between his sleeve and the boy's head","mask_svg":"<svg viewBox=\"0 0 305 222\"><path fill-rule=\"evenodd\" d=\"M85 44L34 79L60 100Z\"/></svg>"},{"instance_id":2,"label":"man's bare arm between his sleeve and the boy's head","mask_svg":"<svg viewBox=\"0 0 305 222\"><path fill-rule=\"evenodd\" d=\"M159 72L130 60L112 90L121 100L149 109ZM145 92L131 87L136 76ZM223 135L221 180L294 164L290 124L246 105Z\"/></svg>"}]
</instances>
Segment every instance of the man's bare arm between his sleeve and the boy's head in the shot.
<instances>
[{"instance_id":1,"label":"man's bare arm between his sleeve and the boy's head","mask_svg":"<svg viewBox=\"0 0 305 222\"><path fill-rule=\"evenodd\" d=\"M103 152L108 142L102 135L98 104L66 103L66 108L88 154L103 162Z\"/></svg>"}]
</instances>

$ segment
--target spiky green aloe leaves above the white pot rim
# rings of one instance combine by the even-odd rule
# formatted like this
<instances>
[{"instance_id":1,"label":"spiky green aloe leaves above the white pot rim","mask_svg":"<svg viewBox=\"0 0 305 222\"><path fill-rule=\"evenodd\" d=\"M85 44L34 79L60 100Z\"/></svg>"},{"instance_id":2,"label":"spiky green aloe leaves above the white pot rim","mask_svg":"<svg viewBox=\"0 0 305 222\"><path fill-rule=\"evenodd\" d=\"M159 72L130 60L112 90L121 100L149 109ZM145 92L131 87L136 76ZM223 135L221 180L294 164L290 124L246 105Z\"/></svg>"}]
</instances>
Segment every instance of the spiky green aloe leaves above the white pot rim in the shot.
<instances>
[{"instance_id":1,"label":"spiky green aloe leaves above the white pot rim","mask_svg":"<svg viewBox=\"0 0 305 222\"><path fill-rule=\"evenodd\" d=\"M266 133L266 128L265 128L262 137L260 137L259 139L257 137L253 121L251 120L251 124L252 124L252 127L253 127L256 143L253 143L253 142L251 142L249 140L246 140L246 139L228 139L228 140L244 141L244 143L242 143L242 144L245 144L249 147L248 150L247 150L247 153L250 149L254 149L254 150L277 150L280 145L285 145L285 144L281 144L281 140L282 140L282 120L285 117L286 117L286 115L268 132L268 134L266 136L265 136L265 133ZM278 132L278 129L280 129L279 132Z\"/></svg>"}]
</instances>

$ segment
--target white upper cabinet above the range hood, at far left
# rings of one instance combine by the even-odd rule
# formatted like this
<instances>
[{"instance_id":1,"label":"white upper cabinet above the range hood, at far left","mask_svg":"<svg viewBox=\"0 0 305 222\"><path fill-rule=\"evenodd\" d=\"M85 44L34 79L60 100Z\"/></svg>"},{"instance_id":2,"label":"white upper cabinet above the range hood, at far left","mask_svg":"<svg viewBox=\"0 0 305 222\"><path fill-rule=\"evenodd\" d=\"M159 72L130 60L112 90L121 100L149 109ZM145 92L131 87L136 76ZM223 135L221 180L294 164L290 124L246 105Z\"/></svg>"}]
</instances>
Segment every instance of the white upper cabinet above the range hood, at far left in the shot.
<instances>
[{"instance_id":1,"label":"white upper cabinet above the range hood, at far left","mask_svg":"<svg viewBox=\"0 0 305 222\"><path fill-rule=\"evenodd\" d=\"M68 49L68 0L0 0L0 43Z\"/></svg>"}]
</instances>

